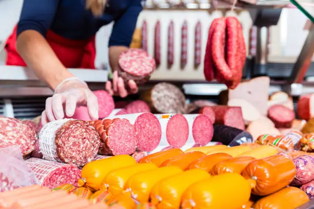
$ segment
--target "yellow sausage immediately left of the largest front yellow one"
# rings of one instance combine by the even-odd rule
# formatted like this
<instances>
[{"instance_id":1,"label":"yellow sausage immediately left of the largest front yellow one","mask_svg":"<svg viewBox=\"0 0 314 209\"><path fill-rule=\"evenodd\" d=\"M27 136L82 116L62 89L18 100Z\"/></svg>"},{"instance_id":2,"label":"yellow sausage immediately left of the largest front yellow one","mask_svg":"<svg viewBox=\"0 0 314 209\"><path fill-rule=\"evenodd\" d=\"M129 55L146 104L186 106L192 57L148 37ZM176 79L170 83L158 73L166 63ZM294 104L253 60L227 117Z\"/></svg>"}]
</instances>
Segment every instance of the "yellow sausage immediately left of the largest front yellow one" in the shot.
<instances>
[{"instance_id":1,"label":"yellow sausage immediately left of the largest front yellow one","mask_svg":"<svg viewBox=\"0 0 314 209\"><path fill-rule=\"evenodd\" d=\"M181 196L188 186L209 176L204 170L192 169L161 180L151 190L151 203L158 209L180 208Z\"/></svg>"}]
</instances>

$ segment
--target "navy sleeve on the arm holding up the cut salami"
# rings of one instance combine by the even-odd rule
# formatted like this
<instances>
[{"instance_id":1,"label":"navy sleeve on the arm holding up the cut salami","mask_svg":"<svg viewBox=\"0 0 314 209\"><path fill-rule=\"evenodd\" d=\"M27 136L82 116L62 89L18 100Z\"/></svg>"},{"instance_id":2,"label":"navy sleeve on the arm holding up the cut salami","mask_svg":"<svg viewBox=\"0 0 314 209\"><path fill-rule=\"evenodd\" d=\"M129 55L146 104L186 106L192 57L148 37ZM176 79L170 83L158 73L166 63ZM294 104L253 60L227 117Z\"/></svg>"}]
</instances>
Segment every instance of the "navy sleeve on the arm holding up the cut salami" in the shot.
<instances>
[{"instance_id":1,"label":"navy sleeve on the arm holding up the cut salami","mask_svg":"<svg viewBox=\"0 0 314 209\"><path fill-rule=\"evenodd\" d=\"M136 22L138 22L142 9L141 0L133 0L127 11L115 20L109 39L109 47L130 46Z\"/></svg>"}]
</instances>

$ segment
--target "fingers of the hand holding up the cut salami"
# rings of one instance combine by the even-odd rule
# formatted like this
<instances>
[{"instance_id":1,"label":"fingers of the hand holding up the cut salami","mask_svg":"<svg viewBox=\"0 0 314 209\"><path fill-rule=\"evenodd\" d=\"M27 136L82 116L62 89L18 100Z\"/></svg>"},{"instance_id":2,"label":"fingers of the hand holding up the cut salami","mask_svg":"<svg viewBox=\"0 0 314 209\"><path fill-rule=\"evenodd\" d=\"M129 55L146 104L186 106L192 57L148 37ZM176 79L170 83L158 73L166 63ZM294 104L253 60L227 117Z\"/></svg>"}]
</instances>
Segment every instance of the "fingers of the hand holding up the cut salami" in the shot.
<instances>
[{"instance_id":1,"label":"fingers of the hand holding up the cut salami","mask_svg":"<svg viewBox=\"0 0 314 209\"><path fill-rule=\"evenodd\" d=\"M117 71L112 74L112 81L106 82L106 90L109 94L126 97L128 94L135 94L139 91L138 85L134 80L128 81L129 90L126 90L124 80L118 76Z\"/></svg>"}]
</instances>

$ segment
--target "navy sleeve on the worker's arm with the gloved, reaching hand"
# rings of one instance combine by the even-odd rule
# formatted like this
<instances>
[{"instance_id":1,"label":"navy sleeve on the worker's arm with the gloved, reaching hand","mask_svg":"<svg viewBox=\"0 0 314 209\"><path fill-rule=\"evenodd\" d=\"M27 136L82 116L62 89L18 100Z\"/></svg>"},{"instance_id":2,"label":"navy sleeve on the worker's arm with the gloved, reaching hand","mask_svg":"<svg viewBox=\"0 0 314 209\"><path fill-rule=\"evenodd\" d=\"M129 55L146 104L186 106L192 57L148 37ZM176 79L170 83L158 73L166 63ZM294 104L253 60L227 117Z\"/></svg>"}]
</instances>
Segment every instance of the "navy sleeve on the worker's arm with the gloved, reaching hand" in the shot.
<instances>
[{"instance_id":1,"label":"navy sleeve on the worker's arm with the gloved, reaching hand","mask_svg":"<svg viewBox=\"0 0 314 209\"><path fill-rule=\"evenodd\" d=\"M53 21L59 0L24 0L17 23L17 36L26 30L35 30L46 36Z\"/></svg>"}]
</instances>

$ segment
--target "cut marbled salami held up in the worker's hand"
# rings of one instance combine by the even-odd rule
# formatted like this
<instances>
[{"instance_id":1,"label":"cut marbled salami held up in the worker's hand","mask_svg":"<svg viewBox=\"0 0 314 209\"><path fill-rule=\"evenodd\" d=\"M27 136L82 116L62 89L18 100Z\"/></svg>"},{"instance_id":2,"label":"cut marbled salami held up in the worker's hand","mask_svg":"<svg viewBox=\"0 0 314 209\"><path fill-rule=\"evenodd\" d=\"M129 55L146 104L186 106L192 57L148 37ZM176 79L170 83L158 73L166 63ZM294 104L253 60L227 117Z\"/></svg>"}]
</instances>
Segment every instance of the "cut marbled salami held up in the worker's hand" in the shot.
<instances>
[{"instance_id":1,"label":"cut marbled salami held up in the worker's hand","mask_svg":"<svg viewBox=\"0 0 314 209\"><path fill-rule=\"evenodd\" d=\"M147 82L155 70L155 60L142 49L129 49L119 57L118 73L125 80L138 84Z\"/></svg>"}]
</instances>

